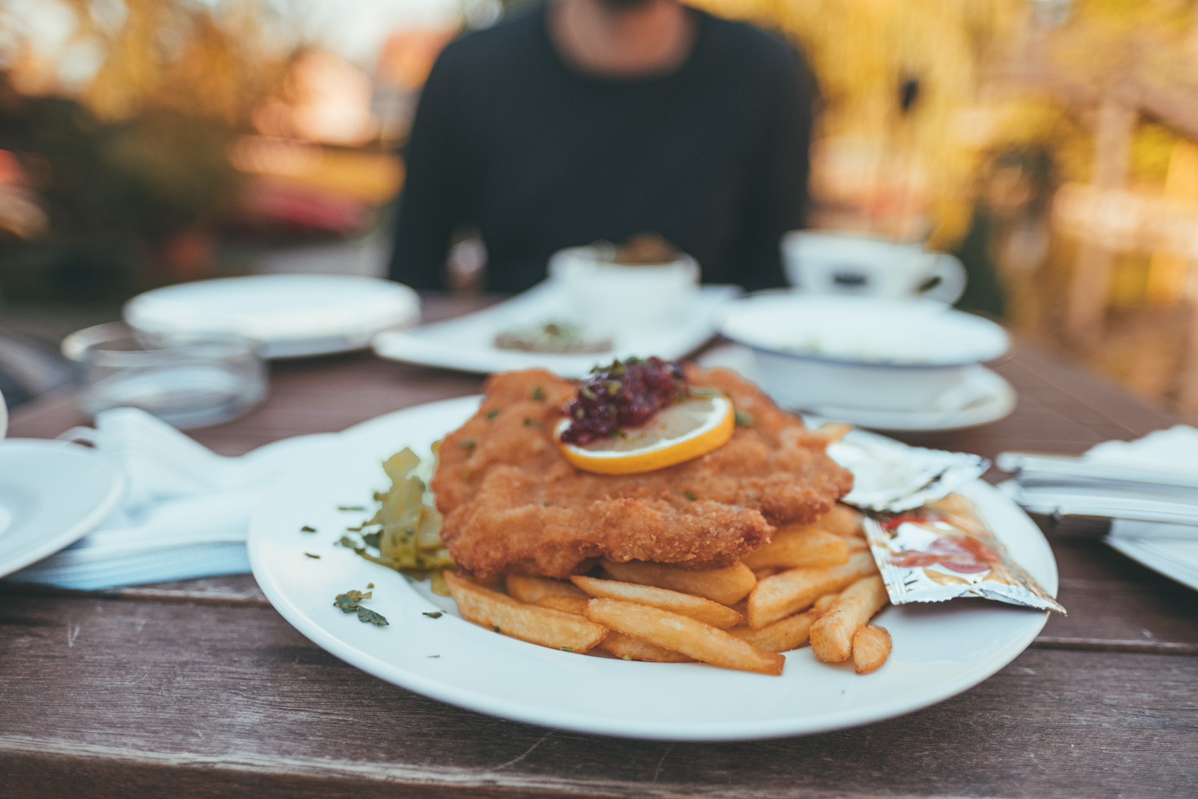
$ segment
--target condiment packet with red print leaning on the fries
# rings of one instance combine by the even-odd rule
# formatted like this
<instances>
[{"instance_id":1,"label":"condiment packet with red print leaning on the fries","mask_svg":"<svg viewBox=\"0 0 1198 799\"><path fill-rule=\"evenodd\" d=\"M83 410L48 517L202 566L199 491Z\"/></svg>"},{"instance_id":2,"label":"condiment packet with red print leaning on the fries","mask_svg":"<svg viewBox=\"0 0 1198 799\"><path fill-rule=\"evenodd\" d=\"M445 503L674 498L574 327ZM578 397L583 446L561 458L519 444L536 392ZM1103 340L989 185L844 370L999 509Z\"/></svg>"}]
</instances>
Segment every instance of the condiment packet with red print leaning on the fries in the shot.
<instances>
[{"instance_id":1,"label":"condiment packet with red print leaning on the fries","mask_svg":"<svg viewBox=\"0 0 1198 799\"><path fill-rule=\"evenodd\" d=\"M960 494L912 510L867 516L863 523L895 605L982 597L1065 613L1011 559L973 503Z\"/></svg>"}]
</instances>

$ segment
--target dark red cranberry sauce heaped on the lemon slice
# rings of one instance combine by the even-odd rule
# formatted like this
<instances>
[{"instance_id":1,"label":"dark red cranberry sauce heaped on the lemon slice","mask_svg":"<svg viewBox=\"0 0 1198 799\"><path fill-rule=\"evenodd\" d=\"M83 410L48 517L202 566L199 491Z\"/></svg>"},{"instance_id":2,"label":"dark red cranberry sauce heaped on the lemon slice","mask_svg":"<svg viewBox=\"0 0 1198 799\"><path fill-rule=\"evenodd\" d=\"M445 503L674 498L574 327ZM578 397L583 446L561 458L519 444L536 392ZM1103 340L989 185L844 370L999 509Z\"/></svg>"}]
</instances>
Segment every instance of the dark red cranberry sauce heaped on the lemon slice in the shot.
<instances>
[{"instance_id":1,"label":"dark red cranberry sauce heaped on the lemon slice","mask_svg":"<svg viewBox=\"0 0 1198 799\"><path fill-rule=\"evenodd\" d=\"M562 408L571 419L562 441L585 446L610 438L621 428L646 424L658 411L685 397L686 379L677 361L613 361L610 367L595 368L582 381L579 395Z\"/></svg>"}]
</instances>

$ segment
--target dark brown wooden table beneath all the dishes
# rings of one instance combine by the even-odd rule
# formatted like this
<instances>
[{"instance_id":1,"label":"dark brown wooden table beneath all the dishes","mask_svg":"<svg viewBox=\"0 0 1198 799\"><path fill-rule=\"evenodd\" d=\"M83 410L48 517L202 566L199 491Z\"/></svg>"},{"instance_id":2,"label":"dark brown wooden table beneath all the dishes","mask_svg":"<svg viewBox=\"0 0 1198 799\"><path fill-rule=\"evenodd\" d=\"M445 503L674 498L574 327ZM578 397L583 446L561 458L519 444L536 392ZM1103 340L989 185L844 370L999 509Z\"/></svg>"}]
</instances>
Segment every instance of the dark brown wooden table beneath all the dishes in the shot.
<instances>
[{"instance_id":1,"label":"dark brown wooden table beneath all the dishes","mask_svg":"<svg viewBox=\"0 0 1198 799\"><path fill-rule=\"evenodd\" d=\"M470 307L426 301L432 316ZM1031 347L998 370L1019 392L1010 418L903 438L1077 454L1174 422ZM479 387L364 353L283 362L265 405L195 437L240 454ZM22 408L11 435L75 424L71 400ZM310 643L248 575L91 594L0 583L0 797L1198 795L1198 594L1093 525L1047 532L1070 615L998 674L900 719L732 744L441 704Z\"/></svg>"}]
</instances>

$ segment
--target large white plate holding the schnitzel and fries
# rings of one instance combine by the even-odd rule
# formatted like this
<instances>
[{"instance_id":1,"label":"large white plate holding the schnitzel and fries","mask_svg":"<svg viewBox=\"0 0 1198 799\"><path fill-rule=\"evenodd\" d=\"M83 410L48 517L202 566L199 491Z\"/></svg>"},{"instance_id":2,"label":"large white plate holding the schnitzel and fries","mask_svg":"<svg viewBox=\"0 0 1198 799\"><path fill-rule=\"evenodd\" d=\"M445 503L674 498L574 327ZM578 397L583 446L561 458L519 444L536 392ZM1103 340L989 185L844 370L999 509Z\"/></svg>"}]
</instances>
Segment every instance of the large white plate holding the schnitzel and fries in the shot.
<instances>
[{"instance_id":1,"label":"large white plate holding the schnitzel and fries","mask_svg":"<svg viewBox=\"0 0 1198 799\"><path fill-rule=\"evenodd\" d=\"M821 664L810 648L788 654L781 677L764 677L575 655L484 630L458 617L453 601L429 593L426 583L410 583L334 545L359 521L337 507L362 504L386 486L383 458L405 446L426 453L477 404L464 398L422 405L346 431L274 485L250 522L249 558L271 604L316 644L381 679L480 713L579 732L769 738L852 727L943 701L1014 660L1045 624L1045 613L984 600L891 607L879 622L894 636L894 653L867 677ZM1028 516L984 483L966 492L1012 556L1055 594L1052 551ZM304 525L319 532L301 533ZM368 582L375 585L370 606L389 627L362 624L333 607L337 594ZM444 616L424 616L436 610Z\"/></svg>"}]
</instances>

